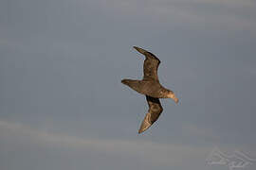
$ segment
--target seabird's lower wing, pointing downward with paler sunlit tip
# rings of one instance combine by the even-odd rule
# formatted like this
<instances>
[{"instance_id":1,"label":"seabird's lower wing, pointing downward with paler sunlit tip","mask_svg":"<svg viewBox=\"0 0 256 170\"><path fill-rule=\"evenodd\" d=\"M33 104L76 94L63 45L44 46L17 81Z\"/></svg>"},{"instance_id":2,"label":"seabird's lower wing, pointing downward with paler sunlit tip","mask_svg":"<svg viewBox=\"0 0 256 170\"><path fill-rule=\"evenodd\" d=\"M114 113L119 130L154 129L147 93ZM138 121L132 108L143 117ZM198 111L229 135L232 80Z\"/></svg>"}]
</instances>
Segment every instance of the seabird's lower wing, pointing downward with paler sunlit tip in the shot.
<instances>
[{"instance_id":1,"label":"seabird's lower wing, pointing downward with paler sunlit tip","mask_svg":"<svg viewBox=\"0 0 256 170\"><path fill-rule=\"evenodd\" d=\"M149 95L146 95L146 98L149 104L149 110L141 123L138 133L141 133L151 127L163 111L159 98L154 98Z\"/></svg>"}]
</instances>

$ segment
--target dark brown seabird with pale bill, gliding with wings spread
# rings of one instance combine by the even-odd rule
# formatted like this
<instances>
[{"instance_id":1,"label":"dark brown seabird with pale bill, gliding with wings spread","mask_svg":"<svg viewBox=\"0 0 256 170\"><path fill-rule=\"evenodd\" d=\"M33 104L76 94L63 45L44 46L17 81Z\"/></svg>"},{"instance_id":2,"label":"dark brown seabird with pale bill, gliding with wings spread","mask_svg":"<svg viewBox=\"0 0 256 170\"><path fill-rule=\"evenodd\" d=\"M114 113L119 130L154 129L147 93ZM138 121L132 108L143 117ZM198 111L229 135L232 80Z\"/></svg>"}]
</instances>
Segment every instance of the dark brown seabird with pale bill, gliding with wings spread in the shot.
<instances>
[{"instance_id":1,"label":"dark brown seabird with pale bill, gliding with wings spread","mask_svg":"<svg viewBox=\"0 0 256 170\"><path fill-rule=\"evenodd\" d=\"M173 91L164 88L159 83L157 69L160 64L160 60L151 52L138 48L137 46L134 46L134 48L146 57L143 65L143 79L123 79L121 82L137 91L137 93L146 95L149 110L138 130L138 133L141 133L151 127L163 111L159 98L172 98L175 103L178 103L178 98L175 96Z\"/></svg>"}]
</instances>

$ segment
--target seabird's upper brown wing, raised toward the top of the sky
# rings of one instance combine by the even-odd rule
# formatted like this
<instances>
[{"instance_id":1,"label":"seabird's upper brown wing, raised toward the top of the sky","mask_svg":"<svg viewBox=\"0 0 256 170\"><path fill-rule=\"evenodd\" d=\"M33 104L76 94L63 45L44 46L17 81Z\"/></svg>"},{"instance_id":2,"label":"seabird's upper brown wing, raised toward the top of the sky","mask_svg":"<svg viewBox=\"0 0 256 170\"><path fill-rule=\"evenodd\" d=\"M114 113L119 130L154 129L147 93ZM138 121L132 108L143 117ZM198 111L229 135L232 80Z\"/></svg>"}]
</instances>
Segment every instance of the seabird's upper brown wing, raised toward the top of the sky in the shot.
<instances>
[{"instance_id":1,"label":"seabird's upper brown wing, raised toward the top of the sky","mask_svg":"<svg viewBox=\"0 0 256 170\"><path fill-rule=\"evenodd\" d=\"M157 69L161 61L157 59L155 55L152 54L151 52L148 52L142 48L138 48L137 46L135 46L134 48L137 49L139 53L143 54L146 57L146 59L144 60L144 66L143 66L143 71L144 71L143 80L158 81Z\"/></svg>"}]
</instances>

